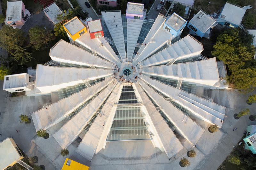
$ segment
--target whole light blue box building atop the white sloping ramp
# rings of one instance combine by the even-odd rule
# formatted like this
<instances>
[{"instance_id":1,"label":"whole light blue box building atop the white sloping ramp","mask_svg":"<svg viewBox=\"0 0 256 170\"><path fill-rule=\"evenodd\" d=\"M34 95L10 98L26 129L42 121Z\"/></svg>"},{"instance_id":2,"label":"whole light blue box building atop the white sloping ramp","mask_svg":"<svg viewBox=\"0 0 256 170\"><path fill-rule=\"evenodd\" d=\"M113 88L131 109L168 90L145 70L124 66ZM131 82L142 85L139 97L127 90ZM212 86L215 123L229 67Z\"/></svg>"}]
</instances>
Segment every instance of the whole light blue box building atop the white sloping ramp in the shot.
<instances>
[{"instance_id":1,"label":"whole light blue box building atop the white sloping ramp","mask_svg":"<svg viewBox=\"0 0 256 170\"><path fill-rule=\"evenodd\" d=\"M170 32L173 38L175 38L180 36L186 25L187 21L174 12L171 16L166 18L164 29Z\"/></svg>"}]
</instances>

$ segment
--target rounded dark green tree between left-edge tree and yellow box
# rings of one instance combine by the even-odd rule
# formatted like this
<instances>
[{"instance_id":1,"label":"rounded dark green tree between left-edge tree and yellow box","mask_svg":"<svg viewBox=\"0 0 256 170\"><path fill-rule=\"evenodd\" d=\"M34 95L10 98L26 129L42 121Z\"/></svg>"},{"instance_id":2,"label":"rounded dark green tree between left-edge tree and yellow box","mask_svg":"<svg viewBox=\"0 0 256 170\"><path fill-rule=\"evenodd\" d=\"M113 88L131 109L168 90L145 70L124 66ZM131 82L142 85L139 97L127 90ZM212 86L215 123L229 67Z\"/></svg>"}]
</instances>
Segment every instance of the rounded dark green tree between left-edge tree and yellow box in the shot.
<instances>
[{"instance_id":1,"label":"rounded dark green tree between left-edge tree and yellow box","mask_svg":"<svg viewBox=\"0 0 256 170\"><path fill-rule=\"evenodd\" d=\"M54 39L50 29L36 25L28 30L29 43L36 49L43 48L49 41Z\"/></svg>"}]
</instances>

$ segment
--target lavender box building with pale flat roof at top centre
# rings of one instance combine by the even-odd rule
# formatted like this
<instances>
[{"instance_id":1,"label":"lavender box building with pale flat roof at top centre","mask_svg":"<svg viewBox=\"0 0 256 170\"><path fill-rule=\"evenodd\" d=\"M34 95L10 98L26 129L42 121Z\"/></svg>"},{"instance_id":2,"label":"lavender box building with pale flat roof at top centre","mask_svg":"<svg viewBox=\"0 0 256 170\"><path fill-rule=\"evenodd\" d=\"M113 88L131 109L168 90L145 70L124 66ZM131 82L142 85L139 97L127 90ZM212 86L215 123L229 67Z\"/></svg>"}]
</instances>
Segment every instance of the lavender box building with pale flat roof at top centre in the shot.
<instances>
[{"instance_id":1,"label":"lavender box building with pale flat roof at top centre","mask_svg":"<svg viewBox=\"0 0 256 170\"><path fill-rule=\"evenodd\" d=\"M126 18L130 18L130 19L143 20L143 10L144 10L144 4L128 2L125 16Z\"/></svg>"}]
</instances>

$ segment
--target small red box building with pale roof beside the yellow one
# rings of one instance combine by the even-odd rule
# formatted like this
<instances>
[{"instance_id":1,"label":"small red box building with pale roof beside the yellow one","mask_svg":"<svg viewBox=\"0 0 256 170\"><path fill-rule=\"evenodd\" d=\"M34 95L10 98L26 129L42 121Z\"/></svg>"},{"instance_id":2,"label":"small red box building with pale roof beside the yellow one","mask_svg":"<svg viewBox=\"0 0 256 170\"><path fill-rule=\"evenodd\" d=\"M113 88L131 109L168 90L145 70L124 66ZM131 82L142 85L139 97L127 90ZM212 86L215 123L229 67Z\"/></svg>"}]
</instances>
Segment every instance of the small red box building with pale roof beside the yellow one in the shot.
<instances>
[{"instance_id":1,"label":"small red box building with pale roof beside the yellow one","mask_svg":"<svg viewBox=\"0 0 256 170\"><path fill-rule=\"evenodd\" d=\"M100 19L87 22L91 39L103 37L104 33L100 23Z\"/></svg>"}]
</instances>

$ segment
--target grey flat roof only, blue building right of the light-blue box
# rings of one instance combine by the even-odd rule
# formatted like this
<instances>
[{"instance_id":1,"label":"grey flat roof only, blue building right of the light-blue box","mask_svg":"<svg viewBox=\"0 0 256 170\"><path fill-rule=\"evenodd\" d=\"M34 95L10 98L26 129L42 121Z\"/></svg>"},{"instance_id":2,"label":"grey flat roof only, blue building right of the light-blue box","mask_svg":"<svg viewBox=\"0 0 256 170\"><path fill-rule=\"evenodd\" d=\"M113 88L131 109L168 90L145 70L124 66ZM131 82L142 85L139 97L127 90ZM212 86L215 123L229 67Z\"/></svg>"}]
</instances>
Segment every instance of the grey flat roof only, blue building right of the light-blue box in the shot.
<instances>
[{"instance_id":1,"label":"grey flat roof only, blue building right of the light-blue box","mask_svg":"<svg viewBox=\"0 0 256 170\"><path fill-rule=\"evenodd\" d=\"M194 15L189 23L194 25L196 29L200 30L203 33L205 33L209 28L213 28L215 25L217 25L216 20L203 10L197 12L197 14Z\"/></svg>"}]
</instances>

